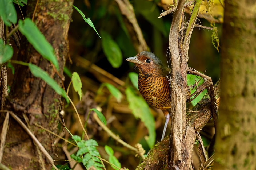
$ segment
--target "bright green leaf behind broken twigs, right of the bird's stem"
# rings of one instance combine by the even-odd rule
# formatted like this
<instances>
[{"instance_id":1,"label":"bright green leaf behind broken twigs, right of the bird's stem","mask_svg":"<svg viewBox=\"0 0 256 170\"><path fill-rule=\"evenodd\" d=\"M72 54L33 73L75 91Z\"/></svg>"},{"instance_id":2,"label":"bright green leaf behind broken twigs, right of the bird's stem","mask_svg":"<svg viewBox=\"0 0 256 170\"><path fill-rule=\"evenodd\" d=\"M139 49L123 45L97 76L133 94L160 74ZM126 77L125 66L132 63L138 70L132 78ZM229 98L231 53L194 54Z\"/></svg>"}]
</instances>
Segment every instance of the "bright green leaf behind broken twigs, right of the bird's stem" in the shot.
<instances>
[{"instance_id":1,"label":"bright green leaf behind broken twigs, right of the bird's stem","mask_svg":"<svg viewBox=\"0 0 256 170\"><path fill-rule=\"evenodd\" d=\"M195 84L196 82L197 82L197 86L195 86L193 89L190 88L191 94L196 91L196 88L198 86L203 84L204 80L200 76L195 76L192 74L187 75L187 85L188 86L191 86L191 85ZM205 96L206 93L207 93L207 89L203 90L196 98L194 98L194 100L191 101L191 104L193 106L195 106L203 98L203 96ZM193 98L193 96L191 98Z\"/></svg>"}]
</instances>

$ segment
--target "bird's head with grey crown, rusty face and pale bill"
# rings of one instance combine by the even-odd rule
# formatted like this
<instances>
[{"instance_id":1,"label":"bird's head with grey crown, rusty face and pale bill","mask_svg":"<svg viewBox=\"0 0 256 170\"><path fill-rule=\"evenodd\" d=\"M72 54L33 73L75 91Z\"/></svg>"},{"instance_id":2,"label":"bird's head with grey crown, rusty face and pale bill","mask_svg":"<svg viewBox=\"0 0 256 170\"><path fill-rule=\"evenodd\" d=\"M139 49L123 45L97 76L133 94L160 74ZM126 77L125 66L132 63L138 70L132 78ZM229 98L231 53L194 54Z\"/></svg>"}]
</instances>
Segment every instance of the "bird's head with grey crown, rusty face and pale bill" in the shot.
<instances>
[{"instance_id":1,"label":"bird's head with grey crown, rusty face and pale bill","mask_svg":"<svg viewBox=\"0 0 256 170\"><path fill-rule=\"evenodd\" d=\"M129 57L126 61L135 63L141 73L155 70L161 71L164 68L161 60L154 53L148 51L142 51L135 57Z\"/></svg>"}]
</instances>

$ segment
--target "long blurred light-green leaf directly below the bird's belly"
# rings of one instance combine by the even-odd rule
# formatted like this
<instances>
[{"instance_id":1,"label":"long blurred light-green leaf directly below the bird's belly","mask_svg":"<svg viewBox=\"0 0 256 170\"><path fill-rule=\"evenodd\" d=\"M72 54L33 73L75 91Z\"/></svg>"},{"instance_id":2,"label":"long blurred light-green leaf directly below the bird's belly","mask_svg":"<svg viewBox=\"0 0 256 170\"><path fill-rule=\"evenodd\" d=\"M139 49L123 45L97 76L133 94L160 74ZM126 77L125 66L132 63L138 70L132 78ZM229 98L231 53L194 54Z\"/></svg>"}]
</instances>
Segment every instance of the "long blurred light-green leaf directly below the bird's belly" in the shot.
<instances>
[{"instance_id":1,"label":"long blurred light-green leaf directly below the bird's belly","mask_svg":"<svg viewBox=\"0 0 256 170\"><path fill-rule=\"evenodd\" d=\"M132 110L135 118L140 118L149 131L149 137L146 139L150 148L155 144L155 119L149 110L149 106L142 96L135 94L134 90L128 87L125 90L129 108Z\"/></svg>"}]
</instances>

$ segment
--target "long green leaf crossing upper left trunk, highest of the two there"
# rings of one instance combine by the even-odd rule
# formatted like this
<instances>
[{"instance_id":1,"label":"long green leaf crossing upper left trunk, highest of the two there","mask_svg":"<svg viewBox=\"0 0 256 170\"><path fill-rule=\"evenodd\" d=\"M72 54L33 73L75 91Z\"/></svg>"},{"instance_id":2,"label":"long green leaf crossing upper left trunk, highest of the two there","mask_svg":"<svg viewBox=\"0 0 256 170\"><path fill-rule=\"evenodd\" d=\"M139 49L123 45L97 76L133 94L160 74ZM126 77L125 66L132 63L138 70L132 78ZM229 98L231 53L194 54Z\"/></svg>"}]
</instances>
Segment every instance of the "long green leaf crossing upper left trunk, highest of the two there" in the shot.
<instances>
[{"instance_id":1,"label":"long green leaf crossing upper left trunk, highest of the two there","mask_svg":"<svg viewBox=\"0 0 256 170\"><path fill-rule=\"evenodd\" d=\"M24 21L19 20L19 31L26 36L27 40L42 55L42 57L51 61L56 69L59 70L58 60L55 56L53 47L30 18L25 18Z\"/></svg>"}]
</instances>

